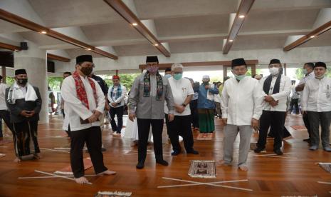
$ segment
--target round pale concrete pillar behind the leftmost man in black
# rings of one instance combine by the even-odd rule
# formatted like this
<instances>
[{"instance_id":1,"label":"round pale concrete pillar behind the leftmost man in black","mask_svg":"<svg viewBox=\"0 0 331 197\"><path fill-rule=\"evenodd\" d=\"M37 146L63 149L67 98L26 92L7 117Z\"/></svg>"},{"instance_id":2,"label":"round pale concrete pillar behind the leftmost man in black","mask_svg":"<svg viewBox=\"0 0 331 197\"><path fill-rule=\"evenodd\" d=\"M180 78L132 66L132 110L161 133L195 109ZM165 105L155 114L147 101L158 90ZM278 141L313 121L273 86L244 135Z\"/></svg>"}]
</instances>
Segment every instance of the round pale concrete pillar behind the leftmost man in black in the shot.
<instances>
[{"instance_id":1,"label":"round pale concrete pillar behind the leftmost man in black","mask_svg":"<svg viewBox=\"0 0 331 197\"><path fill-rule=\"evenodd\" d=\"M47 54L46 50L38 49L31 41L28 50L14 53L14 69L26 69L28 83L38 87L43 105L39 113L39 123L48 123L48 81L47 81Z\"/></svg>"}]
</instances>

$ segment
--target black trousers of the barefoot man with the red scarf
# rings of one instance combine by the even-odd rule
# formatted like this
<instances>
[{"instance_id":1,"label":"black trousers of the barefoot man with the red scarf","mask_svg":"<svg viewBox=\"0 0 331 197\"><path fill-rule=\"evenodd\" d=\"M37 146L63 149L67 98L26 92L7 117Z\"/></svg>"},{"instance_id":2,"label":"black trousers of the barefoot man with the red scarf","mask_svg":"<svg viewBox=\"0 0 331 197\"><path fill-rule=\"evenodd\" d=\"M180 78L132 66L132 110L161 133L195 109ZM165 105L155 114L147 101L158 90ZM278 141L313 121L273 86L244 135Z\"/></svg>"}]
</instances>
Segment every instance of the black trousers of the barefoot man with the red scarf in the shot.
<instances>
[{"instance_id":1,"label":"black trousers of the barefoot man with the red scarf","mask_svg":"<svg viewBox=\"0 0 331 197\"><path fill-rule=\"evenodd\" d=\"M90 153L95 173L107 171L103 163L103 153L101 152L100 126L85 128L80 131L71 131L70 138L70 163L75 178L84 176L83 148L85 142L86 146L88 146L88 153Z\"/></svg>"}]
</instances>

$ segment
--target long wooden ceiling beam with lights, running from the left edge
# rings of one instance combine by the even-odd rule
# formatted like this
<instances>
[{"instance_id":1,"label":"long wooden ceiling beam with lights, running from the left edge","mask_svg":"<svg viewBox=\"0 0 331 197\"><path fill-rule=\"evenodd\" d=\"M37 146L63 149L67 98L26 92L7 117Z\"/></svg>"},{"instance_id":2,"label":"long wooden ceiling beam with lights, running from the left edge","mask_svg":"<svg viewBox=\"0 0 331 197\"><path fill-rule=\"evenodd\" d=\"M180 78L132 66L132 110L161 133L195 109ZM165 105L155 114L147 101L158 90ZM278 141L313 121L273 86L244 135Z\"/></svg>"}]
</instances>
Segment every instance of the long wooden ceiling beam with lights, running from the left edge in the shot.
<instances>
[{"instance_id":1,"label":"long wooden ceiling beam with lights, running from the left edge","mask_svg":"<svg viewBox=\"0 0 331 197\"><path fill-rule=\"evenodd\" d=\"M46 26L41 26L39 24L36 24L33 21L29 21L27 19L24 19L21 16L17 16L15 14L12 14L8 11L5 11L4 9L0 9L0 19L3 19L5 21L9 21L12 24L23 26L26 29L36 31L40 34L45 34L46 36L51 36L54 39L64 41L68 44L73 44L73 45L78 46L80 48L83 48L85 50L94 52L95 54L100 54L100 55L108 57L110 59L118 59L118 57L115 56L114 54L110 54L107 51L97 49L95 46L91 46L89 44L84 43L83 41L73 39L72 37L61 34L58 31L48 29Z\"/></svg>"}]
</instances>

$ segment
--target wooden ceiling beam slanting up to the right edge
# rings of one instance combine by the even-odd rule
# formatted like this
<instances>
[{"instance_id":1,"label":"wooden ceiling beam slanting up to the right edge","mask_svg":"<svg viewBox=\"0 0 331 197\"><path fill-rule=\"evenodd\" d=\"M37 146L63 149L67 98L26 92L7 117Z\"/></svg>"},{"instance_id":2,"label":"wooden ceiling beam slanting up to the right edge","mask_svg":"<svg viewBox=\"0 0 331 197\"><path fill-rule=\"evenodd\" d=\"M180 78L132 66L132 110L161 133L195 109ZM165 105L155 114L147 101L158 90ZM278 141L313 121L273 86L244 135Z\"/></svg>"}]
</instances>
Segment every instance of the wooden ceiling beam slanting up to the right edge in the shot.
<instances>
[{"instance_id":1,"label":"wooden ceiling beam slanting up to the right edge","mask_svg":"<svg viewBox=\"0 0 331 197\"><path fill-rule=\"evenodd\" d=\"M331 21L328 21L326 24L323 24L322 26L318 27L317 29L314 29L309 34L306 34L305 36L302 36L300 39L293 41L291 44L288 44L283 48L283 51L290 51L294 49L295 47L300 46L301 44L305 44L306 42L310 41L311 39L317 39L317 36L320 34L325 33L326 31L329 31L331 29Z\"/></svg>"}]
</instances>

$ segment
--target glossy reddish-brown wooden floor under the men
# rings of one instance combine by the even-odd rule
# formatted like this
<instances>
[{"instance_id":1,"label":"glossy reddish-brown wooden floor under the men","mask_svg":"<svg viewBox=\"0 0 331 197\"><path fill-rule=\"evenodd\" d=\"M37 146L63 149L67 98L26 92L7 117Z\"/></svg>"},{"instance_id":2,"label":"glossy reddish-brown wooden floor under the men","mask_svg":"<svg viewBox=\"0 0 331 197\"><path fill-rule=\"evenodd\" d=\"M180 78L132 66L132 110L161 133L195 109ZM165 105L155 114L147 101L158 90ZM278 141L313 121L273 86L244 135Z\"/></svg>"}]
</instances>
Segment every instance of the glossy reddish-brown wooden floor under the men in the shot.
<instances>
[{"instance_id":1,"label":"glossy reddish-brown wooden floor under the men","mask_svg":"<svg viewBox=\"0 0 331 197\"><path fill-rule=\"evenodd\" d=\"M113 137L111 129L105 128L103 143L107 151L104 152L105 164L111 170L117 171L115 176L88 177L92 185L79 185L74 181L63 178L18 179L26 176L44 176L34 172L46 171L53 173L69 164L69 153L41 150L40 160L22 161L14 163L14 148L9 132L5 131L4 140L0 143L0 153L6 156L0 158L0 196L93 196L98 191L130 191L132 196L331 196L331 185L317 183L317 181L331 182L331 173L327 173L317 166L316 162L331 162L331 153L319 149L309 151L308 144L303 142L307 138L306 131L296 131L291 125L303 125L301 116L288 116L286 126L293 138L283 143L283 157L256 156L248 154L249 171L238 171L238 138L235 143L233 166L216 166L216 178L191 178L187 175L189 161L215 160L223 156L223 127L216 119L216 131L213 140L194 141L194 148L199 155L169 156L171 145L164 144L164 158L169 166L159 166L154 162L154 154L147 154L145 168L137 170L137 147L132 141ZM51 123L40 125L38 141L41 148L56 148L69 146L69 141L61 131L61 116L51 117ZM194 138L198 133L194 132ZM257 140L256 134L251 141ZM273 142L268 141L267 153L273 154ZM152 146L149 147L152 149ZM84 153L88 157L88 153ZM93 168L85 171L93 174ZM233 183L218 183L219 186L195 185L173 188L157 188L158 186L174 186L188 184L182 181L164 179L177 178L200 183L217 181L238 181ZM243 191L232 186L246 188Z\"/></svg>"}]
</instances>

